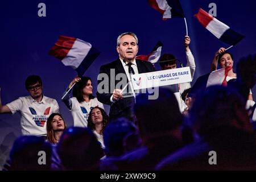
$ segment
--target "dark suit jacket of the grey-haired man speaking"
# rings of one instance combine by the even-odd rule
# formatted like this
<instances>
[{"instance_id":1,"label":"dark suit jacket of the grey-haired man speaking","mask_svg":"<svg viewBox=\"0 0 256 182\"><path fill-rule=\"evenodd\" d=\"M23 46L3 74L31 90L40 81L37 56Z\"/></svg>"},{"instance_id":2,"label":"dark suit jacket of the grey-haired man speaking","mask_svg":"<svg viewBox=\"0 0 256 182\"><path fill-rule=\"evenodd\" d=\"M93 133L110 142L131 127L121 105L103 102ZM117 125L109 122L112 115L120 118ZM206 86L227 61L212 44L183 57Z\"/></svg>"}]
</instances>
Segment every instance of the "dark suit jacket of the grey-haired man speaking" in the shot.
<instances>
[{"instance_id":1,"label":"dark suit jacket of the grey-haired man speaking","mask_svg":"<svg viewBox=\"0 0 256 182\"><path fill-rule=\"evenodd\" d=\"M148 61L142 61L142 60L136 60L137 68L139 73L146 73L146 72L154 72L155 68L154 66L148 62ZM114 69L114 75L111 75L110 77L110 69ZM115 89L115 86L120 82L120 80L115 80L115 76L117 76L118 73L125 73L125 69L123 68L123 65L118 58L117 60L102 65L100 68L100 74L105 73L108 75L109 80L98 80L98 92L97 92L97 99L98 101L102 102L103 104L110 105L110 112L109 116L110 119L117 118L117 117L127 117L129 119L133 119L134 115L132 113L132 106L134 104L134 97L126 97L122 98L121 100L116 101L115 103L110 102L110 97L112 96L112 93ZM104 81L108 82L108 93L101 93L99 92L101 87L99 84ZM128 82L128 78L126 76L126 82ZM110 85L114 85L113 88L110 88ZM124 85L123 85L124 86ZM104 86L102 86L102 89L106 89ZM121 88L122 89L122 86Z\"/></svg>"}]
</instances>

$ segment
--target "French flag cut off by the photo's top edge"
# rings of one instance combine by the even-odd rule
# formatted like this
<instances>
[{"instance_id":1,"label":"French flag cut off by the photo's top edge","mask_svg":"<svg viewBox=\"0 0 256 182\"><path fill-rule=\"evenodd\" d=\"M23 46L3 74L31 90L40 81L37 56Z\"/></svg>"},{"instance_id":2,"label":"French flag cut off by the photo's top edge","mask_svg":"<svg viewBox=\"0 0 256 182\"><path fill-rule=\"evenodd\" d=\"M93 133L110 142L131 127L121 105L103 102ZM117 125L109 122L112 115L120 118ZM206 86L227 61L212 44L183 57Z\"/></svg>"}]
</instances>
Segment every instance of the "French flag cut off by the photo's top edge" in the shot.
<instances>
[{"instance_id":1,"label":"French flag cut off by the photo's top edge","mask_svg":"<svg viewBox=\"0 0 256 182\"><path fill-rule=\"evenodd\" d=\"M185 17L179 0L148 0L148 3L163 15L163 20Z\"/></svg>"}]
</instances>

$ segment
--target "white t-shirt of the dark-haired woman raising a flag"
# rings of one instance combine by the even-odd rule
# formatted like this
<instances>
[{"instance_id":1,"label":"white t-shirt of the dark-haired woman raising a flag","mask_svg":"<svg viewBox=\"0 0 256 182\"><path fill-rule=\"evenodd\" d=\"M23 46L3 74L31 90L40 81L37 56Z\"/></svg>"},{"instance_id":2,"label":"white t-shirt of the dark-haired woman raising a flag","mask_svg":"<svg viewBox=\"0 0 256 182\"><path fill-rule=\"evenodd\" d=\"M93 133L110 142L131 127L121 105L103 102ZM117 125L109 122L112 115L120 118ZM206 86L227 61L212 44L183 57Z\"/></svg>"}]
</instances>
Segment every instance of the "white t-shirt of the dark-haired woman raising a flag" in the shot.
<instances>
[{"instance_id":1,"label":"white t-shirt of the dark-haired woman raising a flag","mask_svg":"<svg viewBox=\"0 0 256 182\"><path fill-rule=\"evenodd\" d=\"M76 127L87 127L89 113L93 107L98 106L104 109L103 104L99 102L96 97L91 99L88 103L85 101L79 102L76 97L72 97L70 100L72 102L70 111L73 116L74 126Z\"/></svg>"}]
</instances>

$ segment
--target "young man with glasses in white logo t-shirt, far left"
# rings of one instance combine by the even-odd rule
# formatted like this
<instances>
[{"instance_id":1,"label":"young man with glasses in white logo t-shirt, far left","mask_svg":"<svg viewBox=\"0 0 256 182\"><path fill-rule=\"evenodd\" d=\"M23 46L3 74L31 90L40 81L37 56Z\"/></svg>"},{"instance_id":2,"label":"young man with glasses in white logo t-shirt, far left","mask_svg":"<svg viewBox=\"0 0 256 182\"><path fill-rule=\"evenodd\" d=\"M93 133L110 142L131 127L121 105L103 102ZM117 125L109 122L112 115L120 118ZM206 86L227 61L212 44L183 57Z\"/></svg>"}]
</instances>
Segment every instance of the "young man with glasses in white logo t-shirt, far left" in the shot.
<instances>
[{"instance_id":1,"label":"young man with glasses in white logo t-shirt, far left","mask_svg":"<svg viewBox=\"0 0 256 182\"><path fill-rule=\"evenodd\" d=\"M6 105L2 105L0 97L0 113L14 114L18 111L22 135L46 137L46 121L52 113L59 113L59 105L55 99L43 95L43 83L39 76L28 76L25 86L30 96L19 97Z\"/></svg>"}]
</instances>

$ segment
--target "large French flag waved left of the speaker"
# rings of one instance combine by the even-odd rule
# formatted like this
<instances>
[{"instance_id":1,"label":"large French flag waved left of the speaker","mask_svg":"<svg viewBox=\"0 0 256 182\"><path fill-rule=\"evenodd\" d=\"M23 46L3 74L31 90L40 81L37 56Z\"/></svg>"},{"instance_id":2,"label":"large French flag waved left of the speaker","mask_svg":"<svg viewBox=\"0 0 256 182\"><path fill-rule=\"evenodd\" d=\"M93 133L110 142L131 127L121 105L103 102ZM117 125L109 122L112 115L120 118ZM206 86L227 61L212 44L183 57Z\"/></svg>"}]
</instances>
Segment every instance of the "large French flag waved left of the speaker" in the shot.
<instances>
[{"instance_id":1,"label":"large French flag waved left of the speaker","mask_svg":"<svg viewBox=\"0 0 256 182\"><path fill-rule=\"evenodd\" d=\"M75 69L81 77L100 52L84 40L60 36L48 54L60 59L65 66Z\"/></svg>"}]
</instances>

